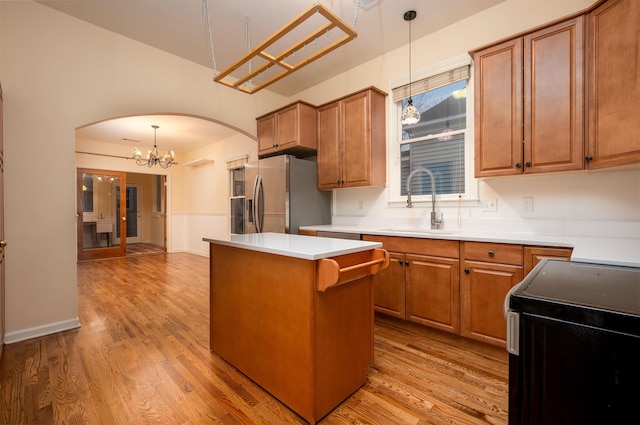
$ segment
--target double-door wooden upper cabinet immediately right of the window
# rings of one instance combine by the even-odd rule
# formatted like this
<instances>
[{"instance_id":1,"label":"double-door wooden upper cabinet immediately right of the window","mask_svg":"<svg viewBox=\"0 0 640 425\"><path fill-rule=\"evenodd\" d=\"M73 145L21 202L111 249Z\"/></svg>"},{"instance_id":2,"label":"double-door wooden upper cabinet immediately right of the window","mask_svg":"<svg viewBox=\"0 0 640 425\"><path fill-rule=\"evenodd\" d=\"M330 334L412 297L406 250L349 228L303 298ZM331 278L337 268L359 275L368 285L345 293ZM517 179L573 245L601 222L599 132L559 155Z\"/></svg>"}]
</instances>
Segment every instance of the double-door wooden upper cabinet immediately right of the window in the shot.
<instances>
[{"instance_id":1,"label":"double-door wooden upper cabinet immediately right of the window","mask_svg":"<svg viewBox=\"0 0 640 425\"><path fill-rule=\"evenodd\" d=\"M473 52L476 177L584 168L584 16Z\"/></svg>"}]
</instances>

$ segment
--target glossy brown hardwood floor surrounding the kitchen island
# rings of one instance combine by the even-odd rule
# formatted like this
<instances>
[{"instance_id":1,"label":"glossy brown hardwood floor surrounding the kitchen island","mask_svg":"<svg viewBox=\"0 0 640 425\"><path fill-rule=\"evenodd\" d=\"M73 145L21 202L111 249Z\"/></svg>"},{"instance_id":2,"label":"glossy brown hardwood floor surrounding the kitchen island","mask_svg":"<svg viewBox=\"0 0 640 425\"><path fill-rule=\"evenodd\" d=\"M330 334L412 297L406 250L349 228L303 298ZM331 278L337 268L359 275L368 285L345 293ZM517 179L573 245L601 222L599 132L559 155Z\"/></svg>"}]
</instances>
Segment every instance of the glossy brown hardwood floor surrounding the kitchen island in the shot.
<instances>
[{"instance_id":1,"label":"glossy brown hardwood floor surrounding the kitchen island","mask_svg":"<svg viewBox=\"0 0 640 425\"><path fill-rule=\"evenodd\" d=\"M208 259L78 263L77 330L7 345L3 424L299 424L208 349ZM368 382L320 423L506 424L507 354L377 316Z\"/></svg>"}]
</instances>

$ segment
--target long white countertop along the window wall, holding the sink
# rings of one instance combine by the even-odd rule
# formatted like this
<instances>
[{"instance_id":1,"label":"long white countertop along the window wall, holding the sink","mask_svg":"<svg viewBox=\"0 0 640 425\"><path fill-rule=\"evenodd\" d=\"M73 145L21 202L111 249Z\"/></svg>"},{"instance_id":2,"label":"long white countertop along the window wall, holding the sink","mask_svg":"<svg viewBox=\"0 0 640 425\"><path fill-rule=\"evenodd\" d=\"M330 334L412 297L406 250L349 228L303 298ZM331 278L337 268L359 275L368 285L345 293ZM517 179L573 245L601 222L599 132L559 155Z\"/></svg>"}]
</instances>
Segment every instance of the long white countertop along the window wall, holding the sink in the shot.
<instances>
[{"instance_id":1,"label":"long white countertop along the window wall, holding the sink","mask_svg":"<svg viewBox=\"0 0 640 425\"><path fill-rule=\"evenodd\" d=\"M401 227L381 229L366 226L336 226L330 224L303 226L301 229L368 235L566 247L573 248L571 256L573 261L640 267L640 238L637 237L563 236L466 230L431 232L428 229L421 230Z\"/></svg>"}]
</instances>

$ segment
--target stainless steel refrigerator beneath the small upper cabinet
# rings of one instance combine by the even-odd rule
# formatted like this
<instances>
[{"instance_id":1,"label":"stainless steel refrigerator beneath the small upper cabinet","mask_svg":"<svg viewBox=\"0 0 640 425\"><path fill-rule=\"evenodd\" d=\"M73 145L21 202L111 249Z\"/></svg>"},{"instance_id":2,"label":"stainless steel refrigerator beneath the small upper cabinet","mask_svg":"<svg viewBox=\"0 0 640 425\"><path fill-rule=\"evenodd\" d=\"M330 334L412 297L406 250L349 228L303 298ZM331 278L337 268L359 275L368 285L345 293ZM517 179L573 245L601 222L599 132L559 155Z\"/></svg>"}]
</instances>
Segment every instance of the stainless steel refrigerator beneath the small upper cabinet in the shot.
<instances>
[{"instance_id":1,"label":"stainless steel refrigerator beneath the small upper cabinet","mask_svg":"<svg viewBox=\"0 0 640 425\"><path fill-rule=\"evenodd\" d=\"M290 155L245 165L244 232L298 233L331 223L331 193L318 190L314 161Z\"/></svg>"}]
</instances>

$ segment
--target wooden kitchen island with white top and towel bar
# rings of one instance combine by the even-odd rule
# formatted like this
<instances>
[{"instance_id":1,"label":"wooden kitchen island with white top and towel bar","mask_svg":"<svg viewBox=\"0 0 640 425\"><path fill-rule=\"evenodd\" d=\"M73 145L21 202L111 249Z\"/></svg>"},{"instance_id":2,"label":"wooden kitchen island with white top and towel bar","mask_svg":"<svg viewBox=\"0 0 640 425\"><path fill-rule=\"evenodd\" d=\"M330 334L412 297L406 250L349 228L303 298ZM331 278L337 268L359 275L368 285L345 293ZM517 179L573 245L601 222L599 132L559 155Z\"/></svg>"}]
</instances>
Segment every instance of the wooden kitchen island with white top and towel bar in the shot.
<instances>
[{"instance_id":1,"label":"wooden kitchen island with white top and towel bar","mask_svg":"<svg viewBox=\"0 0 640 425\"><path fill-rule=\"evenodd\" d=\"M373 364L382 244L262 233L210 243L210 348L316 423Z\"/></svg>"}]
</instances>

